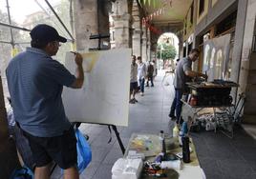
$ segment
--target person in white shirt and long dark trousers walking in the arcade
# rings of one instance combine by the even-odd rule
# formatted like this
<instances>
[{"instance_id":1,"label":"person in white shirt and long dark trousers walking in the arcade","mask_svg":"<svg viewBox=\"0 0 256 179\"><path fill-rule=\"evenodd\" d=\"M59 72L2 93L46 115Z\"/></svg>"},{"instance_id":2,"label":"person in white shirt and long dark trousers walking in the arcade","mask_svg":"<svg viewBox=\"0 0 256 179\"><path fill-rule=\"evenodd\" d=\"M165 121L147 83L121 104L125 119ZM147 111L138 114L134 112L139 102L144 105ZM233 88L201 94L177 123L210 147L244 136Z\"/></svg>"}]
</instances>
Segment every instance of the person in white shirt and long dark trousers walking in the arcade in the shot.
<instances>
[{"instance_id":1,"label":"person in white shirt and long dark trousers walking in the arcade","mask_svg":"<svg viewBox=\"0 0 256 179\"><path fill-rule=\"evenodd\" d=\"M140 88L140 95L144 95L144 83L146 77L146 65L142 62L141 56L138 57L138 81Z\"/></svg>"}]
</instances>

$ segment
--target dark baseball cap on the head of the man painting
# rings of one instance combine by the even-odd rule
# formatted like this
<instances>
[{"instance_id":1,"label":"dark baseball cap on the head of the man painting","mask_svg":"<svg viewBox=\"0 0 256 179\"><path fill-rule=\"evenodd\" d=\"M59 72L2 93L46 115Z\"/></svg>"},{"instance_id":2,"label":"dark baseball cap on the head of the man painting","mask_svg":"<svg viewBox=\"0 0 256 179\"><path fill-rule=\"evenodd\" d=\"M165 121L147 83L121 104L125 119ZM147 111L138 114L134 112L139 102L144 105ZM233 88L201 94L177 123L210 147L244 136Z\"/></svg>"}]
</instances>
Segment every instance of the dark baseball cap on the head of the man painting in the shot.
<instances>
[{"instance_id":1,"label":"dark baseball cap on the head of the man painting","mask_svg":"<svg viewBox=\"0 0 256 179\"><path fill-rule=\"evenodd\" d=\"M31 31L31 37L33 41L37 42L53 42L59 41L62 43L67 42L67 39L60 36L52 26L46 24L39 24L35 26Z\"/></svg>"}]
</instances>

